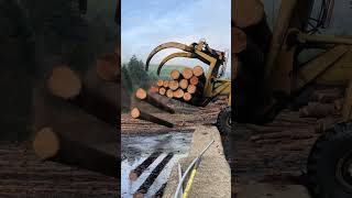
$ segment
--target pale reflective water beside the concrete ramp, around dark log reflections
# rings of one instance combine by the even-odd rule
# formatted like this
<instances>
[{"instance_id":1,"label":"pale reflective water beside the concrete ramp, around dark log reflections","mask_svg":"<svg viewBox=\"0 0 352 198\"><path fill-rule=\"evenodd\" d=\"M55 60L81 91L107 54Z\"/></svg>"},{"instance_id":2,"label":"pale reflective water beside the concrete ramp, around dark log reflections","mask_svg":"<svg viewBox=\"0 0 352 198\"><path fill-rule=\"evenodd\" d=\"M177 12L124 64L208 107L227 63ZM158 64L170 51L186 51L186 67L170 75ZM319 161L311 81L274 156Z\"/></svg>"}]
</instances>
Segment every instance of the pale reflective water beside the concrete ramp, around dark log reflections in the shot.
<instances>
[{"instance_id":1,"label":"pale reflective water beside the concrete ramp, around dark log reflections","mask_svg":"<svg viewBox=\"0 0 352 198\"><path fill-rule=\"evenodd\" d=\"M178 160L186 157L191 141L191 133L172 133L157 135L124 135L121 136L122 163L121 163L121 196L132 198L150 173L167 155L174 153L173 158L167 163L162 173L156 177L145 197L152 197L161 186L167 182L172 168ZM129 179L132 169L139 166L150 154L161 151L153 164L135 180Z\"/></svg>"}]
</instances>

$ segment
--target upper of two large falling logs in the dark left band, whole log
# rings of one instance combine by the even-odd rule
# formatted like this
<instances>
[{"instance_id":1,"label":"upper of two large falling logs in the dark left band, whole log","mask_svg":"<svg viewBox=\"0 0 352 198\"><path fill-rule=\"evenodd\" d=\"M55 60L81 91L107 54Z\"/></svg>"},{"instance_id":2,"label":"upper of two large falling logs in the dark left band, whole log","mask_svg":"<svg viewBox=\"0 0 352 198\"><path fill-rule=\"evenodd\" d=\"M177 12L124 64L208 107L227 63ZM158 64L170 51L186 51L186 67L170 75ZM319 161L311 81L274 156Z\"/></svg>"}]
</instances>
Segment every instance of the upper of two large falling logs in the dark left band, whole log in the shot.
<instances>
[{"instance_id":1,"label":"upper of two large falling logs in the dark left band, whole log","mask_svg":"<svg viewBox=\"0 0 352 198\"><path fill-rule=\"evenodd\" d=\"M101 84L101 86L107 87L111 85ZM100 96L99 92L94 92L89 88L82 86L79 76L68 66L57 66L53 68L52 74L47 79L47 88L53 96L66 99L68 102L79 107L87 113L117 127L118 112L120 112L118 97L116 96L114 99L107 99L105 96Z\"/></svg>"}]
</instances>

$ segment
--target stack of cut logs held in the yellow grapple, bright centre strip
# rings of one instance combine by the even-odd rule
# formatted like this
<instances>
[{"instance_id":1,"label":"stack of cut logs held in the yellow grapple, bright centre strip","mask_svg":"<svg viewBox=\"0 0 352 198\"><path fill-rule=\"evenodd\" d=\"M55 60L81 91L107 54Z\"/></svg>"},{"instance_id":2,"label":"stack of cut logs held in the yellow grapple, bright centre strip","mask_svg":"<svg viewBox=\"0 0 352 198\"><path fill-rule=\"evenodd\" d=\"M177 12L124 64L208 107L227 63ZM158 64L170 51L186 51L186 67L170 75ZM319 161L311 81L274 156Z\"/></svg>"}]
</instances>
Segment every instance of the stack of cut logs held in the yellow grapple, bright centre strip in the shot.
<instances>
[{"instance_id":1,"label":"stack of cut logs held in the yellow grapple, bright centre strip","mask_svg":"<svg viewBox=\"0 0 352 198\"><path fill-rule=\"evenodd\" d=\"M170 80L157 80L156 85L151 87L151 92L191 105L196 105L197 99L202 98L206 76L201 66L186 67L182 73L173 69L169 75Z\"/></svg>"}]
</instances>

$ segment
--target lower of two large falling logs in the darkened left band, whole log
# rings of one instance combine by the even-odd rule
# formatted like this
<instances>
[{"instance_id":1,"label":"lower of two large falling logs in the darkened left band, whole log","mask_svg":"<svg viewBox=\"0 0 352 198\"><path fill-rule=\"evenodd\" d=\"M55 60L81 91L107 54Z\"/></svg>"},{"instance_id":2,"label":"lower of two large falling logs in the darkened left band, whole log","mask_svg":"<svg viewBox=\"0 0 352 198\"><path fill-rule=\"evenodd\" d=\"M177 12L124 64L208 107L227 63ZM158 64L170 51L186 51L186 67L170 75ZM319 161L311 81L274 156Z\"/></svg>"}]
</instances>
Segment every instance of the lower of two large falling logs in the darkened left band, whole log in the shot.
<instances>
[{"instance_id":1,"label":"lower of two large falling logs in the darkened left band, whole log","mask_svg":"<svg viewBox=\"0 0 352 198\"><path fill-rule=\"evenodd\" d=\"M51 128L38 131L32 145L35 154L43 161L77 166L110 177L119 176L120 163L116 155L107 154L78 141L72 141Z\"/></svg>"}]
</instances>

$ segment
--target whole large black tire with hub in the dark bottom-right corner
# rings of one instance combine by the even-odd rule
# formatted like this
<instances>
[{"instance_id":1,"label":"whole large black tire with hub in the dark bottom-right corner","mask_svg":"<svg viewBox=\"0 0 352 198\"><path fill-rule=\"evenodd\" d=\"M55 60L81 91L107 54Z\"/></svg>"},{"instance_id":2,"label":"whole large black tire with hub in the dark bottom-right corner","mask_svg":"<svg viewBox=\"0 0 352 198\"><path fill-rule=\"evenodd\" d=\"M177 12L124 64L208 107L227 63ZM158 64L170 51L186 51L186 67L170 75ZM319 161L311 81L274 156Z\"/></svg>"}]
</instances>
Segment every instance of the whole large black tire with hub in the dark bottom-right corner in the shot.
<instances>
[{"instance_id":1,"label":"whole large black tire with hub in the dark bottom-right corner","mask_svg":"<svg viewBox=\"0 0 352 198\"><path fill-rule=\"evenodd\" d=\"M307 163L314 198L352 197L352 122L337 123L315 143Z\"/></svg>"}]
</instances>

